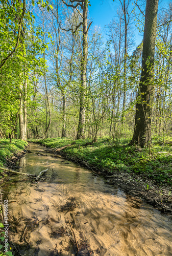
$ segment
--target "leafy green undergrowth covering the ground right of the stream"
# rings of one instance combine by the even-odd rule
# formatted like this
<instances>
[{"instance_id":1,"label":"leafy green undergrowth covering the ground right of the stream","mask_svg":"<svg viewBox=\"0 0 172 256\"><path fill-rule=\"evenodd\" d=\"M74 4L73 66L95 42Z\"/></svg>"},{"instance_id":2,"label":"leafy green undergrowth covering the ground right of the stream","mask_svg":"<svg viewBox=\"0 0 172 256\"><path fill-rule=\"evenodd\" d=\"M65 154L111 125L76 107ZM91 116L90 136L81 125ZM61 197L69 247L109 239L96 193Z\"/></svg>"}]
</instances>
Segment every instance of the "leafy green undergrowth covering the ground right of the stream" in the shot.
<instances>
[{"instance_id":1,"label":"leafy green undergrowth covering the ground right of the stream","mask_svg":"<svg viewBox=\"0 0 172 256\"><path fill-rule=\"evenodd\" d=\"M164 147L162 140L155 138L151 147L139 148L127 145L127 141L114 143L111 139L98 139L93 145L83 146L89 140L76 140L76 144L65 148L63 152L70 157L85 161L99 170L128 172L150 178L159 184L172 185L172 139ZM46 147L61 147L73 142L67 138L32 140ZM124 145L124 143L126 143Z\"/></svg>"}]
</instances>

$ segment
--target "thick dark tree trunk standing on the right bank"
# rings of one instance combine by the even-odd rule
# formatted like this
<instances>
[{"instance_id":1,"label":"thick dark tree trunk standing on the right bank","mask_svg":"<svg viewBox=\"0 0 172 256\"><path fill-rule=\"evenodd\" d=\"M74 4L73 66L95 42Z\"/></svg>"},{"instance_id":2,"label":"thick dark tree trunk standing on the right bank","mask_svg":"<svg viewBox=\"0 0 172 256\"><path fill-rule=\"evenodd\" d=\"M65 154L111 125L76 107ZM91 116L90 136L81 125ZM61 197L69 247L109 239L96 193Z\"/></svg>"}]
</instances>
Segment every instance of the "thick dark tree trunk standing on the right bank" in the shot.
<instances>
[{"instance_id":1,"label":"thick dark tree trunk standing on the right bank","mask_svg":"<svg viewBox=\"0 0 172 256\"><path fill-rule=\"evenodd\" d=\"M158 0L147 0L143 36L142 70L136 103L135 127L131 144L141 147L151 142L151 106Z\"/></svg>"}]
</instances>

